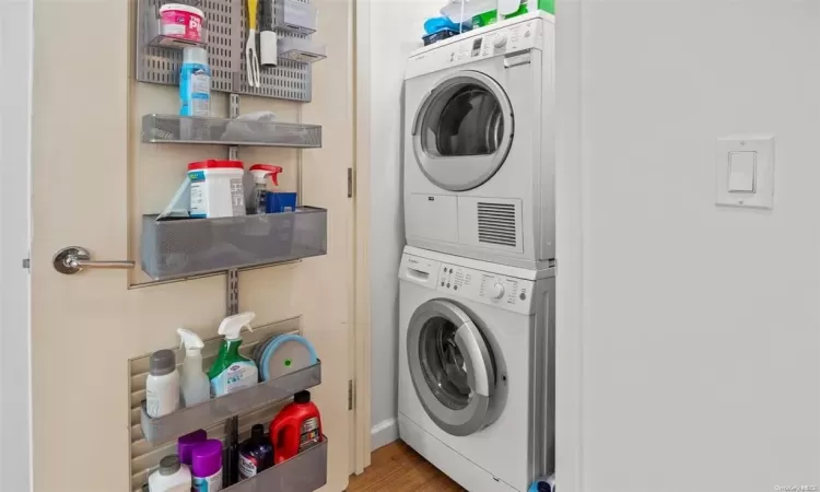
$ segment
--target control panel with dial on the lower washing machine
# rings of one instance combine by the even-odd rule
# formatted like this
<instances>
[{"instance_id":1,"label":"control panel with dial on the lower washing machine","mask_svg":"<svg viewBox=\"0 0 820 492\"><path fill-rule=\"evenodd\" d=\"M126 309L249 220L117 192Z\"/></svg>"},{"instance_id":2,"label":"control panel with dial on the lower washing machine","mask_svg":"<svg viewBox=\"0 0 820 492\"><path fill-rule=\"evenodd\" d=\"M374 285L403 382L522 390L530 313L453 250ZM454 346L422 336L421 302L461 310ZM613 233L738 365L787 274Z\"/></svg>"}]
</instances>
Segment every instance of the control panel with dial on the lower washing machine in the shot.
<instances>
[{"instance_id":1,"label":"control panel with dial on the lower washing machine","mask_svg":"<svg viewBox=\"0 0 820 492\"><path fill-rule=\"evenodd\" d=\"M517 313L530 313L535 282L497 273L441 263L436 289L448 296L466 297Z\"/></svg>"}]
</instances>

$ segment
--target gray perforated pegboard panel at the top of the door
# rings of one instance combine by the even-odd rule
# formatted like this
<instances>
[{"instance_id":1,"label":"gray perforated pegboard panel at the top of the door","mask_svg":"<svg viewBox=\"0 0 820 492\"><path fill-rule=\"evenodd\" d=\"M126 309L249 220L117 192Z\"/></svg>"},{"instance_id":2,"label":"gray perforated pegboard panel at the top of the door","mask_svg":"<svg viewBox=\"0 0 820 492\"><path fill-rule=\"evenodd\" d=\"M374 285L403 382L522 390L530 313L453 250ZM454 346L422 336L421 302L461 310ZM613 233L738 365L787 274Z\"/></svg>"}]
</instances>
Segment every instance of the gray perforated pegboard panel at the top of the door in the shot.
<instances>
[{"instance_id":1,"label":"gray perforated pegboard panel at the top of the door","mask_svg":"<svg viewBox=\"0 0 820 492\"><path fill-rule=\"evenodd\" d=\"M300 0L309 3L308 0ZM262 3L266 4L262 4ZM159 32L160 7L167 0L137 1L137 80L157 84L178 85L183 63L180 49L152 46ZM262 68L261 87L247 84L245 71L245 43L247 40L247 2L245 0L190 0L206 14L204 33L208 39L208 60L211 66L211 91L273 97L291 101L311 101L311 65L281 60L278 67ZM282 3L260 0L257 25L272 25L282 15ZM263 12L273 12L273 19L263 19ZM277 31L278 35L307 37L304 34ZM258 38L257 38L258 47Z\"/></svg>"}]
</instances>

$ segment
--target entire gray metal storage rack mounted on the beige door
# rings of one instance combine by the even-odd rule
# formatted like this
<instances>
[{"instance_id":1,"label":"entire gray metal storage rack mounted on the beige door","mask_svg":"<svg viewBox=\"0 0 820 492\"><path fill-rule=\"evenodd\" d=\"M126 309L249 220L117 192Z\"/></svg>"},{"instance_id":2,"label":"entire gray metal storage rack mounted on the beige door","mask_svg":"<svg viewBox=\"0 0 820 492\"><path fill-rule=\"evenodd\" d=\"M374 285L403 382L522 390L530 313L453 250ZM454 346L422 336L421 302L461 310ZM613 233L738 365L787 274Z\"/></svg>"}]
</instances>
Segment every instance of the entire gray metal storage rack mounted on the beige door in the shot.
<instances>
[{"instance_id":1,"label":"entire gray metal storage rack mounted on the beige door","mask_svg":"<svg viewBox=\"0 0 820 492\"><path fill-rule=\"evenodd\" d=\"M230 160L238 160L239 145L320 148L321 127L317 125L263 122L238 118L239 94L311 101L311 65L282 58L278 67L262 69L261 86L250 87L244 67L247 39L245 0L181 1L196 4L206 14L202 32L207 36L207 42L202 45L208 49L211 66L211 90L230 93L230 118L145 115L142 120L142 141L230 145ZM159 34L157 14L160 7L165 2L166 0L137 1L137 80L176 85L181 66L180 48L187 45ZM280 37L308 39L312 30L290 28L288 20L283 16L286 9L284 2L309 3L309 0L261 0L263 7L260 10L272 11L273 19L258 19L261 21L258 25L272 25L278 30ZM293 4L290 14L297 16L303 11L293 10L292 7ZM315 10L307 11L315 13ZM296 171L300 198L301 162L300 156ZM297 206L294 212L289 213L225 219L157 222L155 216L145 215L141 237L142 268L155 280L226 271L226 314L236 314L239 268L292 261L327 253L327 211L301 207L301 202ZM320 365L316 365L276 382L263 383L159 420L149 419L140 408L138 411L141 432L145 436L144 445L150 446L152 442L178 437L185 434L186 429L202 429L224 420L226 456L235 456L241 435L237 413L291 396L319 384L320 379ZM131 448L133 455L134 444ZM232 482L236 477L236 464L232 459L224 461L223 473L226 482ZM326 482L327 438L318 446L257 477L223 490L311 492Z\"/></svg>"}]
</instances>

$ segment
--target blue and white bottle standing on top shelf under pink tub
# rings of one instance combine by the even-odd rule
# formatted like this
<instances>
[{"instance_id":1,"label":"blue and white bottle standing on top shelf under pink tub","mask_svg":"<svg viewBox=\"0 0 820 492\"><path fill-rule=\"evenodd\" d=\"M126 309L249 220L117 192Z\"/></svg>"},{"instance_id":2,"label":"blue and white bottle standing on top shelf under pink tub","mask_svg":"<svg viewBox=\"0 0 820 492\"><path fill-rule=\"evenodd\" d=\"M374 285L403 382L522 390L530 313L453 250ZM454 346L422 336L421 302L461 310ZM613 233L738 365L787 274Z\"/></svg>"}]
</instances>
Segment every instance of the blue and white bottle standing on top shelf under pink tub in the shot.
<instances>
[{"instance_id":1,"label":"blue and white bottle standing on top shelf under pink tub","mask_svg":"<svg viewBox=\"0 0 820 492\"><path fill-rule=\"evenodd\" d=\"M179 72L179 115L211 115L211 67L208 51L199 46L183 49Z\"/></svg>"}]
</instances>

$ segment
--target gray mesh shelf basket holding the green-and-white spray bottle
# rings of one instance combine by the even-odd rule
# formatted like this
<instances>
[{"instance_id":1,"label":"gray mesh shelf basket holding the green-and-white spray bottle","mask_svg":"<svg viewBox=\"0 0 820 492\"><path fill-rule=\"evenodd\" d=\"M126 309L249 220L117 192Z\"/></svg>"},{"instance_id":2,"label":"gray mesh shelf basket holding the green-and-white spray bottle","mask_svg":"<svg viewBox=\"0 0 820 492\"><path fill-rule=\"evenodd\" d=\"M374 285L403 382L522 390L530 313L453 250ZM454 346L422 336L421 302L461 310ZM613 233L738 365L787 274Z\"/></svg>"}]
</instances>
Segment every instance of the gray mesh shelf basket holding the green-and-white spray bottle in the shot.
<instances>
[{"instance_id":1,"label":"gray mesh shelf basket holding the green-and-white spray bottle","mask_svg":"<svg viewBox=\"0 0 820 492\"><path fill-rule=\"evenodd\" d=\"M151 444L166 443L197 429L209 429L239 413L283 400L320 383L321 362L155 419L148 415L143 401L140 421L142 435Z\"/></svg>"}]
</instances>

